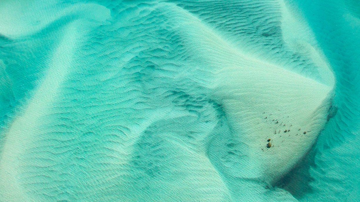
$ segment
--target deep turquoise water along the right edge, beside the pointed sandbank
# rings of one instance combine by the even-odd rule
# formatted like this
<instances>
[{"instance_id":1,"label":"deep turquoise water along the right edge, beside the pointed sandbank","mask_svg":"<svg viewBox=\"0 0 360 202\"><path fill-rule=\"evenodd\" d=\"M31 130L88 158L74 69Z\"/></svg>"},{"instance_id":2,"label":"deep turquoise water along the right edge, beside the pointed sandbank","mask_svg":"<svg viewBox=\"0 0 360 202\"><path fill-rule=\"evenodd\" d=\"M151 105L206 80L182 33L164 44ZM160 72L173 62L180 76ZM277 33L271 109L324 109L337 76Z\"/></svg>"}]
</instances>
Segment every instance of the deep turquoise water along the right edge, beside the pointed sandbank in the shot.
<instances>
[{"instance_id":1,"label":"deep turquoise water along the right edge, beside the pointed sandbank","mask_svg":"<svg viewBox=\"0 0 360 202\"><path fill-rule=\"evenodd\" d=\"M306 14L334 70L337 113L321 132L311 160L307 161L308 171L300 171L303 178L300 182L306 186L296 194L303 201L358 201L360 4L351 0L298 1L297 4Z\"/></svg>"}]
</instances>

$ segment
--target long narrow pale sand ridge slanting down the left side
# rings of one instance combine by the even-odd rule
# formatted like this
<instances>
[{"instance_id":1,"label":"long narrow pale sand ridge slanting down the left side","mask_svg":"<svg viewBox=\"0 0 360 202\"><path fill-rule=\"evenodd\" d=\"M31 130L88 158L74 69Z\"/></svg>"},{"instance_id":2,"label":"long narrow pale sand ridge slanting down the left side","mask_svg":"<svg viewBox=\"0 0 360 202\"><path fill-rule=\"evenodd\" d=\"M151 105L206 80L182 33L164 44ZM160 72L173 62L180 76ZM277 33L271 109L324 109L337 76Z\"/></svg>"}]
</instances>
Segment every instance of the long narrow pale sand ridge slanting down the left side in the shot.
<instances>
[{"instance_id":1,"label":"long narrow pale sand ridge slanting down the left side","mask_svg":"<svg viewBox=\"0 0 360 202\"><path fill-rule=\"evenodd\" d=\"M92 11L94 8L98 8L95 9L95 13ZM66 15L72 11L79 12L79 10L87 13L85 16L91 19L95 18L99 22L110 17L109 10L97 4L78 4L66 9L62 14ZM23 198L26 194L21 191L23 189L19 184L20 182L17 182L15 169L19 167L18 156L26 148L27 142L39 133L37 121L46 114L48 107L57 95L58 88L72 63L78 38L86 32L86 28L89 26L91 23L89 24L84 20L74 20L66 25L63 39L49 60L48 72L28 102L26 109L17 115L9 126L0 159L0 176L2 178L0 187L2 190L8 190L4 193L7 194L10 201L29 201L29 198Z\"/></svg>"}]
</instances>

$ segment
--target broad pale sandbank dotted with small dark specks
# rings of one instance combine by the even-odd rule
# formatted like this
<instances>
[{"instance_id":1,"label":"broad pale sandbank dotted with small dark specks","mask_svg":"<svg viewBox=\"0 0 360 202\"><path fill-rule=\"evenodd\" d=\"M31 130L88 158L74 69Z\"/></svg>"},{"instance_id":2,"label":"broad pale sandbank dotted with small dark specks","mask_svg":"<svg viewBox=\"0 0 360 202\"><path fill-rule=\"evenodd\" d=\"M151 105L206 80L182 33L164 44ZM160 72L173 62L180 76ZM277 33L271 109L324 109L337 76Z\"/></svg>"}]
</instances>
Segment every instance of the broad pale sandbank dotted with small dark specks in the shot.
<instances>
[{"instance_id":1,"label":"broad pale sandbank dotted with small dark specks","mask_svg":"<svg viewBox=\"0 0 360 202\"><path fill-rule=\"evenodd\" d=\"M179 29L190 33L184 38L206 56L199 60L207 62L213 75L207 87L225 107L238 138L251 148L242 177L275 182L306 154L326 122L334 85L328 64L321 69L330 78L325 85L235 49L190 13L171 17L189 22L179 24ZM266 148L268 138L271 148Z\"/></svg>"}]
</instances>

